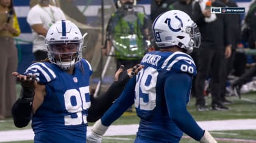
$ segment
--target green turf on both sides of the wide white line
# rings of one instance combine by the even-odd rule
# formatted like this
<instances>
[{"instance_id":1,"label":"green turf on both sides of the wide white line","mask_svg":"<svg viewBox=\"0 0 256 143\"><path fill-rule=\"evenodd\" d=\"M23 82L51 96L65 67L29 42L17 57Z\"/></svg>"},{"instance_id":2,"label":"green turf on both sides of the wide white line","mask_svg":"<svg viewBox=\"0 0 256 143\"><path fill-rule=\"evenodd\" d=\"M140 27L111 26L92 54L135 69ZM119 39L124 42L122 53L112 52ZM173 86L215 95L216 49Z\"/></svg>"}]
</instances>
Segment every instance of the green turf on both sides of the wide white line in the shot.
<instances>
[{"instance_id":1,"label":"green turf on both sides of the wide white line","mask_svg":"<svg viewBox=\"0 0 256 143\"><path fill-rule=\"evenodd\" d=\"M207 97L207 103L210 105L211 98ZM194 98L191 98L188 104L188 110L193 115L196 121L211 121L211 120L225 120L225 119L256 119L256 93L247 93L242 95L241 99L238 97L228 97L233 104L227 105L230 110L227 111L196 111L194 106ZM124 113L121 118L113 123L113 125L120 124L138 124L139 119L135 112ZM89 125L93 125L90 123ZM26 127L30 128L29 127ZM13 125L12 119L5 119L0 121L0 131L4 130L23 130L25 128L16 128ZM256 130L229 130L229 131L210 131L218 142L256 142ZM1 136L0 136L1 138ZM131 143L135 136L104 136L102 143ZM234 139L232 141L232 139ZM33 141L19 141L15 143L33 142ZM184 135L181 143L196 142L194 139ZM14 142L12 142L14 143Z\"/></svg>"}]
</instances>

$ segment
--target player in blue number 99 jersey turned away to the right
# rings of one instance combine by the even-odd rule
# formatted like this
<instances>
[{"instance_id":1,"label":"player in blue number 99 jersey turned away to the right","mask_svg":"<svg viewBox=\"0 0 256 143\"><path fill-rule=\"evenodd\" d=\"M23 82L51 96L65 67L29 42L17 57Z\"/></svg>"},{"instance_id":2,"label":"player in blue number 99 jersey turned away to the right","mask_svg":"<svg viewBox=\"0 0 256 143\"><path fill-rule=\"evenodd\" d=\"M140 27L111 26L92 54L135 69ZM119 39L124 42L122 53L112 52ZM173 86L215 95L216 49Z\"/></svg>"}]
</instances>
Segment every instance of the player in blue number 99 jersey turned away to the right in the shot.
<instances>
[{"instance_id":1,"label":"player in blue number 99 jersey turned away to the right","mask_svg":"<svg viewBox=\"0 0 256 143\"><path fill-rule=\"evenodd\" d=\"M194 121L187 110L196 65L187 55L198 48L201 34L190 16L171 10L152 25L160 51L144 55L136 78L92 127L87 142L101 142L108 126L134 104L140 118L136 143L179 142L183 133L199 142L216 142Z\"/></svg>"}]
</instances>

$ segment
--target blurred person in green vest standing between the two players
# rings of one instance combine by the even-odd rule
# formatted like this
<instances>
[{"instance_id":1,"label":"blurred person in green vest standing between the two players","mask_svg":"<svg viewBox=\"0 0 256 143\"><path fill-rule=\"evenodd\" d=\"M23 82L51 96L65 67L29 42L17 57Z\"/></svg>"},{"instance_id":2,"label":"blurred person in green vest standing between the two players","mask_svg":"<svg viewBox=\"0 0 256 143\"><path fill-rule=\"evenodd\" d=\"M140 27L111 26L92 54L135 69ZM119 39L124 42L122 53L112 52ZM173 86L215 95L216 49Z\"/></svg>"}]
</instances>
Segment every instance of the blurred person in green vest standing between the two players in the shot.
<instances>
[{"instance_id":1,"label":"blurred person in green vest standing between the two players","mask_svg":"<svg viewBox=\"0 0 256 143\"><path fill-rule=\"evenodd\" d=\"M145 13L136 12L136 0L117 1L118 10L113 13L107 25L107 36L102 49L108 55L115 47L116 69L120 65L131 68L139 64L148 50L147 42L152 39L151 21Z\"/></svg>"}]
</instances>

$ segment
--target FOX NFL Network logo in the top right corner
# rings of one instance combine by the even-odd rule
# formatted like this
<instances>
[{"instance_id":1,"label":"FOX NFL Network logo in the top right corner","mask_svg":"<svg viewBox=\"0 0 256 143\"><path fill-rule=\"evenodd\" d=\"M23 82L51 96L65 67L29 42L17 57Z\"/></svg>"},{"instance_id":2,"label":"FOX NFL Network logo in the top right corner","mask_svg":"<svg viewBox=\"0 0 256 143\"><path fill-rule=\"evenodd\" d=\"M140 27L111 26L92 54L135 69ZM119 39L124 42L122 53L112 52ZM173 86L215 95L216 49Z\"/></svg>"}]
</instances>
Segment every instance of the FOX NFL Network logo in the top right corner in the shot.
<instances>
[{"instance_id":1,"label":"FOX NFL Network logo in the top right corner","mask_svg":"<svg viewBox=\"0 0 256 143\"><path fill-rule=\"evenodd\" d=\"M211 13L244 13L244 7L211 7Z\"/></svg>"}]
</instances>

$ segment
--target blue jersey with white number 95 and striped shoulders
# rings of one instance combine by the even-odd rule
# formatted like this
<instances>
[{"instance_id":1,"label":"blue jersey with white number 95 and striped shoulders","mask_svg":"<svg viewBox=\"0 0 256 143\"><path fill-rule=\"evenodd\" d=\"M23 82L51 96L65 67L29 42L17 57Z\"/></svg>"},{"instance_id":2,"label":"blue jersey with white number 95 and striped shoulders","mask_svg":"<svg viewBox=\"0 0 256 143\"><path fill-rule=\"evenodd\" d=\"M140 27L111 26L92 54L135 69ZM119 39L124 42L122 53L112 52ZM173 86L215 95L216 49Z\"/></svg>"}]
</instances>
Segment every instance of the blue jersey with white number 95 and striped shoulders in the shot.
<instances>
[{"instance_id":1,"label":"blue jersey with white number 95 and striped shoulders","mask_svg":"<svg viewBox=\"0 0 256 143\"><path fill-rule=\"evenodd\" d=\"M46 86L43 104L32 118L35 142L85 142L91 65L82 59L69 75L55 64L37 62L27 73Z\"/></svg>"}]
</instances>

